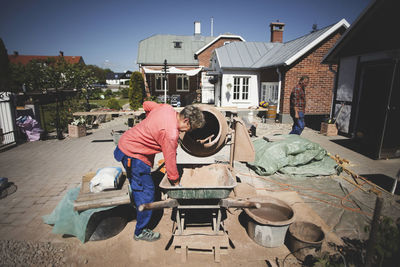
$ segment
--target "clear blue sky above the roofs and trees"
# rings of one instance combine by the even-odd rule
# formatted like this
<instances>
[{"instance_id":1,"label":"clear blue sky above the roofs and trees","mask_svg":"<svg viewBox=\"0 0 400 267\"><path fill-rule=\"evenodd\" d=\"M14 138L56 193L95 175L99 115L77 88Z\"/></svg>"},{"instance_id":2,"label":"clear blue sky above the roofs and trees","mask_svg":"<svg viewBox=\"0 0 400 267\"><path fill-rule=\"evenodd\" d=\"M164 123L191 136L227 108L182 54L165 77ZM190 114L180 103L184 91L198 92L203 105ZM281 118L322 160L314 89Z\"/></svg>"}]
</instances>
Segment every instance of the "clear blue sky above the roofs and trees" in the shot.
<instances>
[{"instance_id":1,"label":"clear blue sky above the roofs and trees","mask_svg":"<svg viewBox=\"0 0 400 267\"><path fill-rule=\"evenodd\" d=\"M138 43L154 34L233 33L269 42L269 23L285 23L284 42L346 19L371 0L2 0L0 38L9 54L82 56L116 72L137 70Z\"/></svg>"}]
</instances>

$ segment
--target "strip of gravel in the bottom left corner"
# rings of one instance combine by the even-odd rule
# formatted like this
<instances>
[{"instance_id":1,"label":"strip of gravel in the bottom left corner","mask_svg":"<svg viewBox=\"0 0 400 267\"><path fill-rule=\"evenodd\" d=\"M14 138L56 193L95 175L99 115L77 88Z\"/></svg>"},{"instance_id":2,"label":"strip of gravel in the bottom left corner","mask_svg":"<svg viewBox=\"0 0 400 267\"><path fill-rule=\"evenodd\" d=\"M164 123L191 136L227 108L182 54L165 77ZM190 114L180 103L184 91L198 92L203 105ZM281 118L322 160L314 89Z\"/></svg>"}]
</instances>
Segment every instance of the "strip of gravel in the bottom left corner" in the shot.
<instances>
[{"instance_id":1,"label":"strip of gravel in the bottom left corner","mask_svg":"<svg viewBox=\"0 0 400 267\"><path fill-rule=\"evenodd\" d=\"M68 251L60 243L0 240L0 266L62 266Z\"/></svg>"}]
</instances>

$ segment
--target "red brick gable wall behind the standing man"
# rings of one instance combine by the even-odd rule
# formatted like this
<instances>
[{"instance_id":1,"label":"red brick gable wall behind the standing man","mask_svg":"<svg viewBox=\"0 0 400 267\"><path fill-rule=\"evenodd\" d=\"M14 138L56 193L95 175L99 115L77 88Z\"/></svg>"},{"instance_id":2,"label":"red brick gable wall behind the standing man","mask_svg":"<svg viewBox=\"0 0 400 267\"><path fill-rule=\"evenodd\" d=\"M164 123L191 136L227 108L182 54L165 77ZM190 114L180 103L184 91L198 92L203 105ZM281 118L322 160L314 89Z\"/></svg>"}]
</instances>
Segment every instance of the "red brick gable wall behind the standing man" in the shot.
<instances>
[{"instance_id":1,"label":"red brick gable wall behind the standing man","mask_svg":"<svg viewBox=\"0 0 400 267\"><path fill-rule=\"evenodd\" d=\"M310 77L306 87L306 114L329 114L331 110L332 91L334 87L334 74L329 70L329 65L322 64L322 58L329 49L338 41L343 30L333 33L322 44L304 55L292 64L286 71L282 82L281 107L283 114L290 112L290 93L303 75ZM333 69L336 71L337 66Z\"/></svg>"}]
</instances>

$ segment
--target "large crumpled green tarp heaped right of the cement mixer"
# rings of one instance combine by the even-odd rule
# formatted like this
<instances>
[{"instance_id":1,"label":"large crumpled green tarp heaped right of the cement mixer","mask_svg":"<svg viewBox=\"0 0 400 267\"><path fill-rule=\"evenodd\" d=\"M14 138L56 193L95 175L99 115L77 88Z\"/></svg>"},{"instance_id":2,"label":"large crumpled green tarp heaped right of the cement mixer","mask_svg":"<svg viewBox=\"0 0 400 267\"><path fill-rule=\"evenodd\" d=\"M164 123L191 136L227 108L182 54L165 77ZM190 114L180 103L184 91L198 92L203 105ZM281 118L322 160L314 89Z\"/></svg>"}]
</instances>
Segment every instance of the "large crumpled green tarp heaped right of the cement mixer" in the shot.
<instances>
[{"instance_id":1,"label":"large crumpled green tarp heaped right of the cement mixer","mask_svg":"<svg viewBox=\"0 0 400 267\"><path fill-rule=\"evenodd\" d=\"M253 142L255 160L248 165L259 175L281 172L298 176L332 175L337 164L324 148L298 135L281 135L284 140Z\"/></svg>"}]
</instances>

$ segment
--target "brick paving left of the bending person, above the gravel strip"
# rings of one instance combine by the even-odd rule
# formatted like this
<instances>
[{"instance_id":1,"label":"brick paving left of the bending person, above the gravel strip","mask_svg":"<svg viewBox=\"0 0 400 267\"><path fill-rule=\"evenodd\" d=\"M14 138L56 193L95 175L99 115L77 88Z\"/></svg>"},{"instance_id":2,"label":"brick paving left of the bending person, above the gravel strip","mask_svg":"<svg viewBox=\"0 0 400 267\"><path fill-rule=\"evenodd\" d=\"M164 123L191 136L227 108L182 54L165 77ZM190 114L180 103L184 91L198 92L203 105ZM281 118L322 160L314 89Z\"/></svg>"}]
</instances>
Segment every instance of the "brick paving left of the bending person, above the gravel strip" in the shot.
<instances>
[{"instance_id":1,"label":"brick paving left of the bending person, above the gravel strip","mask_svg":"<svg viewBox=\"0 0 400 267\"><path fill-rule=\"evenodd\" d=\"M85 173L119 166L113 158L111 130L126 130L127 117L118 117L81 138L28 142L0 153L0 176L17 191L0 199L0 239L61 241L51 234L42 216L57 206Z\"/></svg>"}]
</instances>

